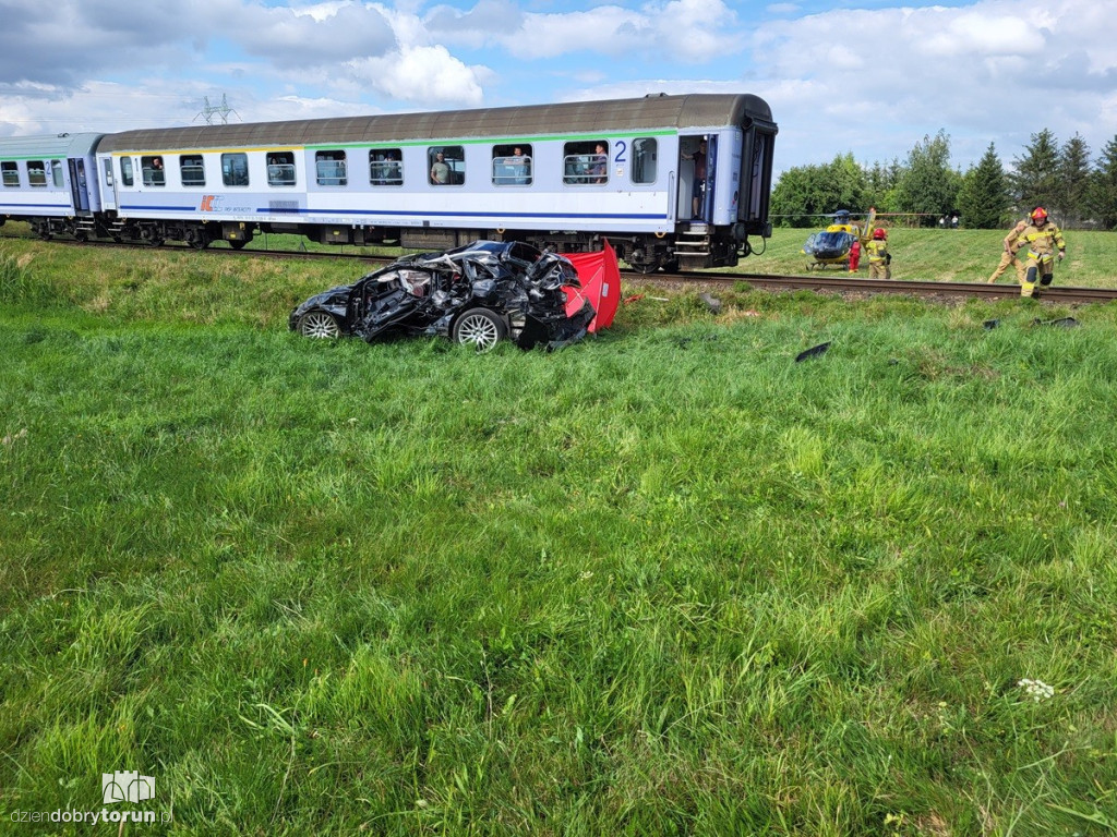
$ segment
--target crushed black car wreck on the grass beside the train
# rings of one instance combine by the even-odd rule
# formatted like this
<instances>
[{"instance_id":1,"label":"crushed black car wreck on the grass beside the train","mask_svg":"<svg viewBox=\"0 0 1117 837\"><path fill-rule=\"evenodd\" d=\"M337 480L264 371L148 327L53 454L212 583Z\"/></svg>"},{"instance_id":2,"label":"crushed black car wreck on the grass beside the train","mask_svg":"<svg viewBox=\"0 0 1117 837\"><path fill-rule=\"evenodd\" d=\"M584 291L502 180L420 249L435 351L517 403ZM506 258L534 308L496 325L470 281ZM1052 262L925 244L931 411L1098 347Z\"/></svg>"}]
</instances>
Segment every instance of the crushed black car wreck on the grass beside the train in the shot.
<instances>
[{"instance_id":1,"label":"crushed black car wreck on the grass beside the train","mask_svg":"<svg viewBox=\"0 0 1117 837\"><path fill-rule=\"evenodd\" d=\"M566 315L563 286L577 271L557 253L523 242L475 241L407 256L353 285L317 294L290 312L306 337L441 335L488 352L509 338L524 349L560 348L585 336L593 306Z\"/></svg>"}]
</instances>

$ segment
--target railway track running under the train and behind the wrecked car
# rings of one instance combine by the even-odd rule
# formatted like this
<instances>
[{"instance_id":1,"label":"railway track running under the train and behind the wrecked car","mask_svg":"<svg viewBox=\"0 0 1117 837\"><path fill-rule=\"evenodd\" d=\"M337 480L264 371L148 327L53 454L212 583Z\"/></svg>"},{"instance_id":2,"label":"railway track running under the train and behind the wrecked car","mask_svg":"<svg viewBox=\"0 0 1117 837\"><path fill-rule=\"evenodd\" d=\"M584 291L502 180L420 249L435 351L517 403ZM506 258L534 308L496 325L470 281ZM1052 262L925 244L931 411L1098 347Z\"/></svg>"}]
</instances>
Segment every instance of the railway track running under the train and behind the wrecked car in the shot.
<instances>
[{"instance_id":1,"label":"railway track running under the train and behind the wrecked car","mask_svg":"<svg viewBox=\"0 0 1117 837\"><path fill-rule=\"evenodd\" d=\"M26 235L6 235L4 238L31 238ZM67 241L55 239L56 243L71 247L115 247L135 250L136 244L118 244L112 241ZM187 244L161 244L159 247L141 248L143 250L189 251ZM225 247L211 247L204 250L219 258L273 258L273 259L350 259L363 262L389 262L392 257L378 257L366 253L321 252L312 250L270 250L251 249L233 250ZM987 285L985 282L936 282L924 280L900 279L866 279L850 276L782 276L775 273L640 273L621 271L621 279L628 282L659 285L663 287L729 288L744 282L753 288L764 290L814 290L830 294L872 295L872 294L906 294L916 297L955 297L983 299L1013 299L1020 297L1020 286L1014 283ZM1082 305L1087 302L1113 302L1117 300L1117 289L1110 288L1073 288L1052 285L1041 289L1041 299L1048 302Z\"/></svg>"}]
</instances>

